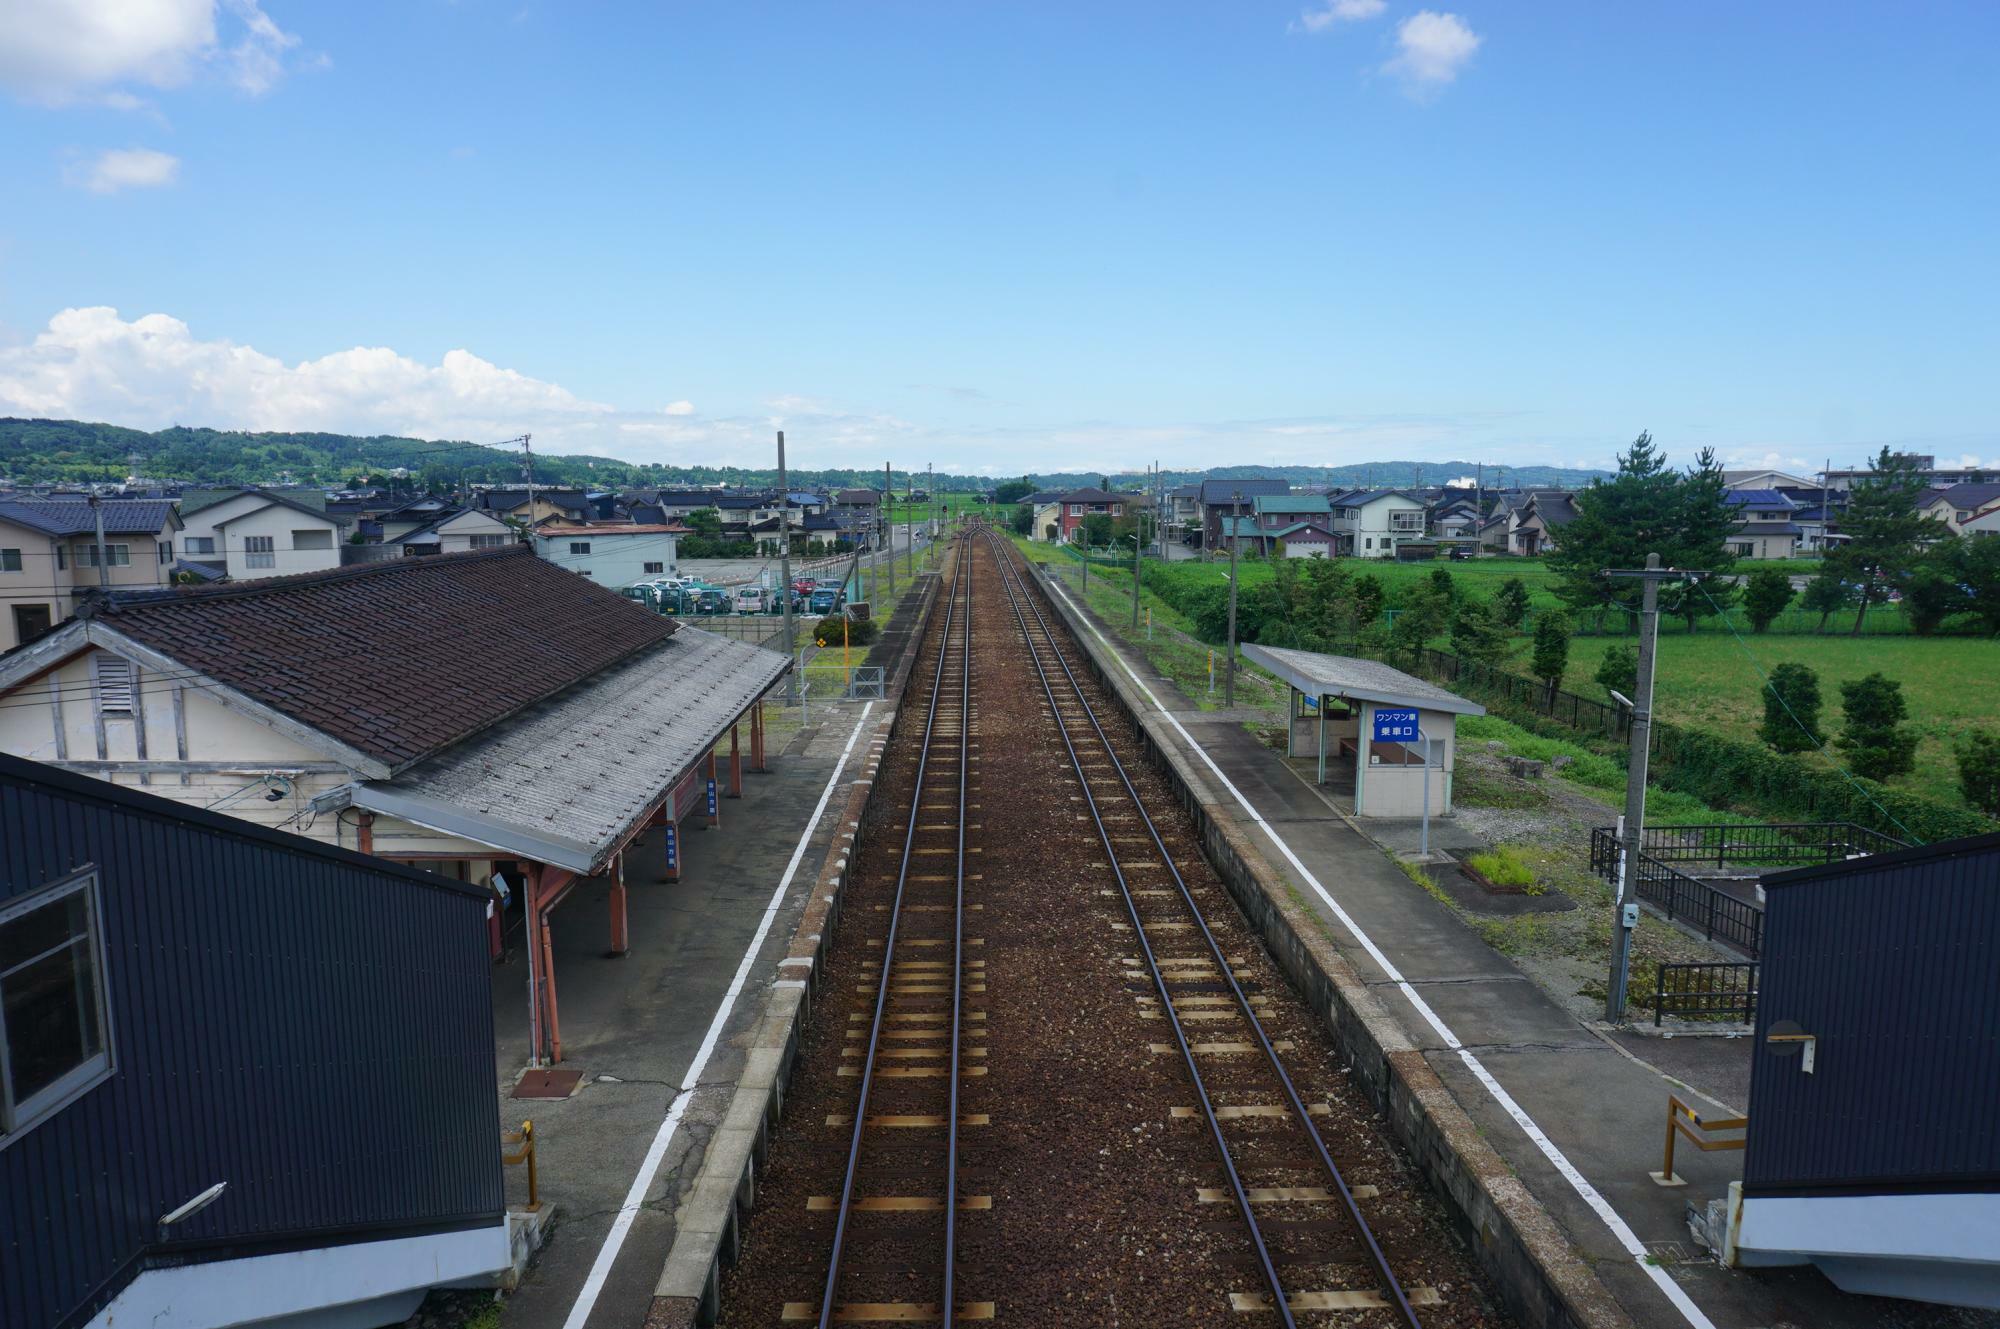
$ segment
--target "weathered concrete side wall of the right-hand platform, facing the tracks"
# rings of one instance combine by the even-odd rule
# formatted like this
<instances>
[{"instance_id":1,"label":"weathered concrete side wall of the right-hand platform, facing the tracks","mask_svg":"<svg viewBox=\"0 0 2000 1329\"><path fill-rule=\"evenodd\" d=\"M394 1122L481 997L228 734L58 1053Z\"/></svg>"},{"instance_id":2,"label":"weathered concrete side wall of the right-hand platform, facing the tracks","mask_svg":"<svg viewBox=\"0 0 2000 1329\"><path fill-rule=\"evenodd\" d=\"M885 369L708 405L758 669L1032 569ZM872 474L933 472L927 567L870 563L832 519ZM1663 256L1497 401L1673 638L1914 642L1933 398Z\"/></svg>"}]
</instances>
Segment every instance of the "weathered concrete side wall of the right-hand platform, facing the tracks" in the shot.
<instances>
[{"instance_id":1,"label":"weathered concrete side wall of the right-hand platform, facing the tracks","mask_svg":"<svg viewBox=\"0 0 2000 1329\"><path fill-rule=\"evenodd\" d=\"M1264 855L1256 827L1224 803L1222 791L1196 767L1180 737L1138 695L1070 604L1062 596L1046 598L1068 622L1092 673L1138 725L1154 765L1178 789L1210 865L1272 957L1320 1013L1398 1143L1450 1205L1506 1309L1530 1329L1630 1329L1630 1317L1556 1219L1480 1137L1402 1025L1320 933L1318 917L1292 899L1294 887Z\"/></svg>"}]
</instances>

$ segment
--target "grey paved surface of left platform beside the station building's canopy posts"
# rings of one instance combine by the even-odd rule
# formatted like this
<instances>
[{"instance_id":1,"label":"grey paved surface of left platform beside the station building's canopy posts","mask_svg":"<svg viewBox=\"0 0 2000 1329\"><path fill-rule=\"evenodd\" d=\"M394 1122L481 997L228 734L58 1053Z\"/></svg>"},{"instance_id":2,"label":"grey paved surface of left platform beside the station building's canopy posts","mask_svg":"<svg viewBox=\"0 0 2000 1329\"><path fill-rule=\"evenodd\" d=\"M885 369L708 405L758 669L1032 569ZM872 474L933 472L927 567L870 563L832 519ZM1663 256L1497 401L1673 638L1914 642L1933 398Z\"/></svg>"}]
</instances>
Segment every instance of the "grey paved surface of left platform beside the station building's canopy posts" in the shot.
<instances>
[{"instance_id":1,"label":"grey paved surface of left platform beside the station building's canopy posts","mask_svg":"<svg viewBox=\"0 0 2000 1329\"><path fill-rule=\"evenodd\" d=\"M744 797L724 799L718 829L686 829L678 883L660 881L662 835L646 835L628 865L632 951L624 959L604 959L604 883L580 885L556 909L562 1065L584 1071L570 1099L508 1097L528 1057L528 971L518 931L510 937L514 955L494 971L500 1121L514 1127L522 1117L534 1119L542 1199L560 1213L528 1279L504 1303L504 1329L630 1329L646 1319L674 1235L674 1201L700 1165L728 1103L742 1069L738 1041L762 1005L754 997L776 977L776 961L834 839L830 815L810 833L808 819L858 713L858 705L814 707L812 727L796 731L774 757L772 773L746 773ZM840 783L856 773L858 765L850 763ZM732 981L802 839L802 861L750 957L738 995ZM730 1013L700 1069L700 1087L680 1105L678 1129L664 1131L678 1087L724 1005ZM642 1185L636 1213L620 1223L634 1177L654 1163L650 1153L656 1149L656 1173ZM508 1201L524 1199L524 1169L510 1167ZM620 1227L626 1231L618 1233ZM600 1269L608 1237L618 1247Z\"/></svg>"}]
</instances>

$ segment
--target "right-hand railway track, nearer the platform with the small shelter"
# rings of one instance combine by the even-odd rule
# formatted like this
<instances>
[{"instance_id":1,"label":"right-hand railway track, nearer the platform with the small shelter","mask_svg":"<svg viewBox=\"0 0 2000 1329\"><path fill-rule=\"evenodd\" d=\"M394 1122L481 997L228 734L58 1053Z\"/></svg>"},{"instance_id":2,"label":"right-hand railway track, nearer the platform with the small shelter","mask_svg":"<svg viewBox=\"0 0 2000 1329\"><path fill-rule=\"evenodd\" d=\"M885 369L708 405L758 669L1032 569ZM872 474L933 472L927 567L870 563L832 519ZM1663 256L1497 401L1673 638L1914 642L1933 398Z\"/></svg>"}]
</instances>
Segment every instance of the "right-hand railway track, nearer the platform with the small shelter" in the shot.
<instances>
[{"instance_id":1,"label":"right-hand railway track, nearer the platform with the small shelter","mask_svg":"<svg viewBox=\"0 0 2000 1329\"><path fill-rule=\"evenodd\" d=\"M1204 917L1202 907L1196 903L1194 893L1188 889L1188 881L1174 863L1174 855L1166 847L1166 839L1160 835L1158 825L1146 811L1146 801L1132 785L1132 777L1126 773L1124 761L1120 761L1116 747L1104 733L1104 723L1100 721L1096 707L1090 705L1090 697L1076 679L1076 671L1070 667L1070 660L1064 656L1042 606L1036 604L1034 592L1030 592L1022 582L1014 550L1004 546L1000 536L992 532L984 532L980 538L988 542L990 552L1000 566L1000 582L1008 604L1014 610L1014 622L1020 628L1030 656L1034 658L1036 681L1040 683L1042 697L1048 703L1050 719L1062 735L1062 745L1068 751L1076 783L1082 789L1084 807L1088 809L1098 841L1104 847L1110 871L1118 881L1118 893L1124 901L1126 915L1132 919L1132 939L1138 943L1146 977L1158 995L1160 1019L1174 1035L1174 1047L1180 1053L1182 1065L1188 1069L1188 1081L1194 1089L1196 1109L1208 1125L1208 1133L1216 1145L1216 1159L1228 1179L1230 1199L1244 1219L1250 1247L1256 1253L1258 1269L1264 1275L1264 1285L1268 1289L1268 1301L1264 1307L1274 1309L1280 1323L1294 1325L1294 1309L1332 1311L1386 1305L1396 1311L1400 1323L1410 1329L1422 1329L1416 1309L1410 1305L1408 1293L1404 1293L1402 1283L1396 1279L1388 1259L1382 1255L1382 1247L1370 1231L1368 1219L1362 1217L1354 1189L1348 1185L1346 1177L1342 1177L1340 1167L1334 1163L1334 1155L1328 1151L1326 1141L1320 1137L1320 1129L1312 1121L1312 1111L1298 1093L1298 1087L1292 1083L1292 1077L1286 1073L1284 1061L1272 1045L1272 1039L1264 1033L1264 1023L1258 1019L1256 1007L1244 993L1244 987L1236 977L1234 963L1224 953L1222 943L1216 941L1214 929ZM1064 689L1060 695L1056 683L1058 675ZM1098 769L1108 771L1108 775L1090 773L1090 767L1084 763L1086 751L1090 755L1102 755L1104 761ZM1142 841L1138 855L1118 849L1118 839L1112 835L1110 823L1106 823L1108 803L1120 809L1130 809L1130 817L1144 827L1144 835L1138 837ZM1130 841L1132 837L1124 839ZM1132 887L1132 875L1128 873L1128 863L1132 859L1142 859L1164 869L1172 887L1136 891ZM1162 957L1152 943L1154 933L1180 937L1188 935L1186 929L1192 929L1192 935L1200 937L1200 947L1190 957L1172 957L1162 963ZM1220 1009L1214 999L1206 995L1206 989L1212 989L1218 983L1228 991L1230 1003ZM1184 1009L1190 1013L1200 1011L1202 1015L1234 1011L1236 1019L1232 1025L1238 1033L1250 1035L1250 1041L1256 1045L1254 1055L1268 1071L1268 1093L1256 1095L1256 1089L1250 1089L1250 1095L1266 1097L1270 1101L1230 1105L1236 1111L1216 1103L1208 1089L1208 1077L1202 1071L1200 1053L1214 1049L1216 1055L1236 1055L1246 1049L1242 1049L1240 1041L1234 1039L1190 1037L1186 1021L1182 1019ZM1204 1033L1216 1031L1208 1029ZM1240 1093L1242 1085L1238 1083L1234 1089ZM1326 1181L1332 1183L1330 1187L1246 1185L1244 1167L1238 1163L1238 1153L1242 1151L1244 1141L1232 1139L1234 1125L1226 1127L1224 1123L1262 1125L1272 1117L1268 1109L1278 1109L1278 1117L1282 1117L1282 1121L1292 1129L1296 1141L1310 1145L1310 1153L1324 1171ZM1338 1203L1348 1219L1348 1225L1352 1227L1352 1235L1360 1241L1364 1251L1364 1259L1360 1261L1364 1265L1362 1277L1344 1277L1340 1287L1288 1291L1286 1279L1278 1271L1278 1261L1272 1257L1272 1243L1266 1239L1264 1225L1258 1219L1256 1201L1262 1199L1270 1199L1274 1203ZM1312 1257L1308 1253L1298 1257L1294 1263L1310 1265ZM1350 1261L1336 1257L1324 1263L1344 1267ZM1242 1293L1238 1295L1238 1307L1250 1309L1244 1303L1254 1299L1256 1293Z\"/></svg>"}]
</instances>

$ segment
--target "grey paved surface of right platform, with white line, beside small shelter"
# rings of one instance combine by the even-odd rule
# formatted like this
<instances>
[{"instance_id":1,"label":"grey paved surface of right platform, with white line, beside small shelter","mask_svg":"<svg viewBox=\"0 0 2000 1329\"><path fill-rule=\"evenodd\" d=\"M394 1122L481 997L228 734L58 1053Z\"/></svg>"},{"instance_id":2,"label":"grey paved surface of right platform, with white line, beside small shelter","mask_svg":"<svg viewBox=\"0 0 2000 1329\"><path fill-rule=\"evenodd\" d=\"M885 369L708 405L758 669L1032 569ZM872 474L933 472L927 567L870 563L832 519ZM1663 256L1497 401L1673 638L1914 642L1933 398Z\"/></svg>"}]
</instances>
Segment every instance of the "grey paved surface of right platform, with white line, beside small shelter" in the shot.
<instances>
[{"instance_id":1,"label":"grey paved surface of right platform, with white line, beside small shelter","mask_svg":"<svg viewBox=\"0 0 2000 1329\"><path fill-rule=\"evenodd\" d=\"M1070 606L1080 608L1074 596ZM1100 632L1100 644L1118 650L1108 632ZM1196 711L1144 660L1120 658L1172 713L1202 777L1220 773L1204 799L1264 823L1272 863L1294 879L1308 877L1298 883L1300 895L1340 953L1366 981L1388 989L1384 1007L1638 1325L1984 1323L1942 1307L1848 1297L1810 1269L1716 1267L1692 1243L1684 1209L1722 1197L1742 1175L1742 1155L1682 1149L1676 1171L1688 1185L1662 1189L1650 1181L1648 1171L1660 1167L1666 1097L1676 1091L1676 1081L1640 1061L1654 1041L1604 1037L1580 1025L1404 877L1358 823L1288 769L1282 753L1240 723ZM1696 1043L1680 1039L1670 1049L1674 1073L1740 1091L1744 1083L1728 1067L1740 1065L1742 1047ZM1722 1101L1746 1107L1742 1097Z\"/></svg>"}]
</instances>

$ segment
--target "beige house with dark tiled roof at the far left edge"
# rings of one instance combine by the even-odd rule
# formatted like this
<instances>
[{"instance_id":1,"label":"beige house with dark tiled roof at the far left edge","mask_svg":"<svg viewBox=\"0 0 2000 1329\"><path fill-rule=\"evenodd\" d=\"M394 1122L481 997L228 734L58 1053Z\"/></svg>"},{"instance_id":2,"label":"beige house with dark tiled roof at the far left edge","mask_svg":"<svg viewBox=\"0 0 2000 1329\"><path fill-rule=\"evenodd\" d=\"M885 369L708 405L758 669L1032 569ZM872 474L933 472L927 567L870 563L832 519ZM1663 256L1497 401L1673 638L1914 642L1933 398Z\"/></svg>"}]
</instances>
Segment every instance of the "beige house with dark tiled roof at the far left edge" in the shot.
<instances>
[{"instance_id":1,"label":"beige house with dark tiled roof at the far left edge","mask_svg":"<svg viewBox=\"0 0 2000 1329\"><path fill-rule=\"evenodd\" d=\"M98 514L104 548L98 548ZM174 578L180 516L164 498L0 498L0 650L26 644L104 588Z\"/></svg>"}]
</instances>

